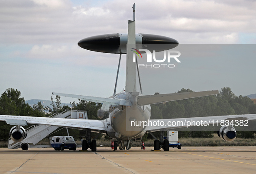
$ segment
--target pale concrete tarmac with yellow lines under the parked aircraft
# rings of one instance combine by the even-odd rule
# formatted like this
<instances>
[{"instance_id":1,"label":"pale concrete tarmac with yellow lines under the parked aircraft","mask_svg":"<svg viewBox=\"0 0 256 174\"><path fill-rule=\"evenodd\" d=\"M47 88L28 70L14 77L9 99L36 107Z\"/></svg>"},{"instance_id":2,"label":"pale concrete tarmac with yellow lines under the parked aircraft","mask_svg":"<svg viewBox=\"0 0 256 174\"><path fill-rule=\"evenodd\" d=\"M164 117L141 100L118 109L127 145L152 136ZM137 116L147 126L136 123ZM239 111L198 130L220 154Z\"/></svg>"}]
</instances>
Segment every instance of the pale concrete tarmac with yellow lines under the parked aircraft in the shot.
<instances>
[{"instance_id":1,"label":"pale concrete tarmac with yellow lines under the parked aircraft","mask_svg":"<svg viewBox=\"0 0 256 174\"><path fill-rule=\"evenodd\" d=\"M80 148L78 148L79 150ZM170 151L0 148L0 174L36 173L256 173L256 147L181 147Z\"/></svg>"}]
</instances>

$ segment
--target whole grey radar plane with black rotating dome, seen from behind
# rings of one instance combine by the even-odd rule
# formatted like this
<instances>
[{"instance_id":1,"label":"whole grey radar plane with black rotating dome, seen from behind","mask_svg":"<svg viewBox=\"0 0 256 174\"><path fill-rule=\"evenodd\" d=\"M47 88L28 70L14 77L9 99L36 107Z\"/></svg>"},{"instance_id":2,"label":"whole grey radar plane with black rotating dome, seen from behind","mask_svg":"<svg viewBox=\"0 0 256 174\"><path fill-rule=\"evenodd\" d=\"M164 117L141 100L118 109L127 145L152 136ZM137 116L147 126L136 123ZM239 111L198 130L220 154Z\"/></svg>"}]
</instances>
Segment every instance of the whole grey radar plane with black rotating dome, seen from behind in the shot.
<instances>
[{"instance_id":1,"label":"whole grey radar plane with black rotating dome, seen from behind","mask_svg":"<svg viewBox=\"0 0 256 174\"><path fill-rule=\"evenodd\" d=\"M169 151L169 141L163 139L163 131L176 129L180 127L198 126L193 125L187 120L193 120L203 125L204 122L212 120L214 124L221 124L223 121L230 119L255 120L256 114L247 115L230 115L230 116L207 116L193 117L181 119L150 119L150 104L163 103L175 100L183 100L194 97L203 97L218 94L218 90L201 91L201 92L185 92L185 93L168 93L159 95L143 95L140 85L140 92L136 89L136 76L139 76L137 61L134 62L134 49L136 45L164 44L164 48L148 48L154 49L156 52L169 50L178 45L175 39L151 34L141 34L135 32L135 3L133 4L133 20L128 21L128 34L106 34L97 35L82 39L78 42L81 48L104 53L126 54L126 84L125 90L116 93L118 72L120 68L120 59L117 70L116 84L114 93L111 97L92 97L65 93L52 93L53 95L78 98L80 100L92 101L95 103L103 103L101 109L97 111L98 119L61 119L61 118L45 118L31 116L6 116L0 115L0 121L14 125L10 130L10 138L14 142L21 142L26 138L26 130L22 126L28 124L51 125L73 129L86 130L86 139L82 141L82 150L91 148L91 151L97 151L96 138L104 133L114 139L114 150L117 146L121 150L130 150L132 147L131 140L141 140L146 132L149 132L155 139L154 150L163 148ZM150 50L152 51L152 50ZM136 75L137 70L137 75ZM140 80L139 80L140 84ZM159 124L160 122L160 124ZM179 122L178 124L169 125L170 122ZM139 123L139 124L137 124ZM190 124L189 124L190 123ZM193 122L192 122L193 123ZM218 135L225 141L233 141L236 136L236 130L231 125L221 125ZM160 131L159 139L152 132ZM91 132L98 132L94 139L91 139Z\"/></svg>"}]
</instances>

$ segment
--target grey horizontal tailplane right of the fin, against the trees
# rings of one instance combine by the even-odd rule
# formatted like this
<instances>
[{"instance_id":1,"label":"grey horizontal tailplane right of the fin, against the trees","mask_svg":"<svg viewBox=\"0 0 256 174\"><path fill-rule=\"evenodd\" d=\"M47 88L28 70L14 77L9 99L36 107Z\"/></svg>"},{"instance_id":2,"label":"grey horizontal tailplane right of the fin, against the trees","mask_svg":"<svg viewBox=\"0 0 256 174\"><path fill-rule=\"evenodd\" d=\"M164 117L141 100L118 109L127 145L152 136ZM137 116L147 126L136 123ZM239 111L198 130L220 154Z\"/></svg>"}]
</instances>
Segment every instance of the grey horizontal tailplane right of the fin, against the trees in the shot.
<instances>
[{"instance_id":1,"label":"grey horizontal tailplane right of the fin, against the trees","mask_svg":"<svg viewBox=\"0 0 256 174\"><path fill-rule=\"evenodd\" d=\"M156 104L168 101L189 99L195 97L203 97L218 94L218 90L201 91L201 92L185 92L185 93L167 93L159 95L138 96L138 105Z\"/></svg>"}]
</instances>

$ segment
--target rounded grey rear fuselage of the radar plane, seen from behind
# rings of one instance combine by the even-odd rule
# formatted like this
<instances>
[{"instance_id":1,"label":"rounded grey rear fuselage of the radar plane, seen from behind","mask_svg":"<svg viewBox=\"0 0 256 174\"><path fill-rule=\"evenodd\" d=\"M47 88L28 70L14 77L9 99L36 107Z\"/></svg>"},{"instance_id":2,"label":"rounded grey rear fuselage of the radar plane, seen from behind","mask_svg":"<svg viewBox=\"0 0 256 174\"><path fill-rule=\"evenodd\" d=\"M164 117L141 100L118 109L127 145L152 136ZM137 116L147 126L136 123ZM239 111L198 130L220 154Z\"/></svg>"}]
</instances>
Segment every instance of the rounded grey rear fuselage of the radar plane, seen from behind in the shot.
<instances>
[{"instance_id":1,"label":"rounded grey rear fuselage of the radar plane, seen from behind","mask_svg":"<svg viewBox=\"0 0 256 174\"><path fill-rule=\"evenodd\" d=\"M125 91L117 93L113 98L130 100L133 106L104 104L98 110L98 117L104 118L104 126L108 136L115 139L130 140L140 138L145 134L146 127L134 129L134 126L131 126L131 121L148 121L151 107L150 105L137 105L136 97Z\"/></svg>"}]
</instances>

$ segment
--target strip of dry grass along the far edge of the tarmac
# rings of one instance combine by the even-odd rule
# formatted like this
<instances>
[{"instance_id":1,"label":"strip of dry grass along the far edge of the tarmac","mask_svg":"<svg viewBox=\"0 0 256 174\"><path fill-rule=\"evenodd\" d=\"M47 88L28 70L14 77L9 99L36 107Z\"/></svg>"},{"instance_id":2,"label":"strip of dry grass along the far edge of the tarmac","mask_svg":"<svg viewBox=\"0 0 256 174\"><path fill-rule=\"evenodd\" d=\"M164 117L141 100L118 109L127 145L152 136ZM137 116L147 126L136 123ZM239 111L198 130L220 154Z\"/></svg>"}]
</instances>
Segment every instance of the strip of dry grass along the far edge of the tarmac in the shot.
<instances>
[{"instance_id":1,"label":"strip of dry grass along the far edge of the tarmac","mask_svg":"<svg viewBox=\"0 0 256 174\"><path fill-rule=\"evenodd\" d=\"M256 139L243 139L236 138L233 142L226 142L217 134L214 134L213 138L180 138L178 139L182 146L256 146ZM78 145L81 145L81 141L76 141ZM43 139L37 145L49 145L48 139ZM97 146L110 147L110 139L99 139L97 140ZM154 140L145 141L145 145L148 147L154 146ZM140 141L134 141L133 146L141 146ZM0 142L0 148L7 148L8 142Z\"/></svg>"}]
</instances>

